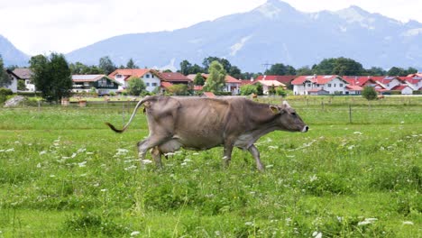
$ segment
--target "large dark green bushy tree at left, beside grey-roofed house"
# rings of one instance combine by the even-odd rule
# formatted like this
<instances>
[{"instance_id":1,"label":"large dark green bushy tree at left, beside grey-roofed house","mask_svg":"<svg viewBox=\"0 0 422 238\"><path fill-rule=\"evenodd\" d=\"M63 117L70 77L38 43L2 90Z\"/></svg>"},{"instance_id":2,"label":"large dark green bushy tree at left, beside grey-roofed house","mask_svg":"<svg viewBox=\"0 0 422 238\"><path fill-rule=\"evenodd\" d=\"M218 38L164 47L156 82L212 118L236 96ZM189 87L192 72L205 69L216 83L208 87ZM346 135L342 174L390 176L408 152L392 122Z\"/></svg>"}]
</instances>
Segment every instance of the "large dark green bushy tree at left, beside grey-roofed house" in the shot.
<instances>
[{"instance_id":1,"label":"large dark green bushy tree at left, beside grey-roofed house","mask_svg":"<svg viewBox=\"0 0 422 238\"><path fill-rule=\"evenodd\" d=\"M52 53L50 58L43 55L30 59L32 79L41 96L49 102L58 102L70 95L72 78L69 64L62 54Z\"/></svg>"}]
</instances>

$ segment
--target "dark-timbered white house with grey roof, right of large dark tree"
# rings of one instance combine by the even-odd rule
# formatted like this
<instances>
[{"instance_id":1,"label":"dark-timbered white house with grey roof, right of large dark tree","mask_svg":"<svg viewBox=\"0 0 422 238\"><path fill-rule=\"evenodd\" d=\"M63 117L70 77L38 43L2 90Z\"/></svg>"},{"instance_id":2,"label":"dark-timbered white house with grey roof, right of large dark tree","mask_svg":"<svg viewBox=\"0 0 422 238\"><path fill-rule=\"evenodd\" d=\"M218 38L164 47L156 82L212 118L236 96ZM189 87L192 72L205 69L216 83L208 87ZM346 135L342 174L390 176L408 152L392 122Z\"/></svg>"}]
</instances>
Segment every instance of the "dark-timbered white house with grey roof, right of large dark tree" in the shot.
<instances>
[{"instance_id":1,"label":"dark-timbered white house with grey roof, right of large dark tree","mask_svg":"<svg viewBox=\"0 0 422 238\"><path fill-rule=\"evenodd\" d=\"M116 93L121 83L106 75L72 75L74 93L91 92L95 88L98 95Z\"/></svg>"}]
</instances>

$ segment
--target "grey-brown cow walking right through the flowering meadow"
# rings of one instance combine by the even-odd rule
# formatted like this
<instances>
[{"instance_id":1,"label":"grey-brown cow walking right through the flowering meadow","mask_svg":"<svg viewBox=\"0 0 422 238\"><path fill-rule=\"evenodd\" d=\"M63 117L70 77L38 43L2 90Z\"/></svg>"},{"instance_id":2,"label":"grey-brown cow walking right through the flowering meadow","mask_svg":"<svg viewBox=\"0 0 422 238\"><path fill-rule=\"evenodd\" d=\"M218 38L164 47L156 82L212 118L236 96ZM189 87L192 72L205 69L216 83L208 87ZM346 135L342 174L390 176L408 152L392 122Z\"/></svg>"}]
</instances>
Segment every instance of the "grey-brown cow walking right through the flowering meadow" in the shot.
<instances>
[{"instance_id":1,"label":"grey-brown cow walking right through the flowering meadow","mask_svg":"<svg viewBox=\"0 0 422 238\"><path fill-rule=\"evenodd\" d=\"M243 97L178 98L146 96L133 110L122 130L106 123L116 133L123 133L132 122L139 106L144 105L150 135L138 142L143 160L146 151L158 167L161 155L178 151L180 147L203 151L216 146L224 147L225 165L228 165L234 147L251 152L258 169L263 166L260 152L253 145L262 135L275 130L306 133L307 125L287 102L267 105Z\"/></svg>"}]
</instances>

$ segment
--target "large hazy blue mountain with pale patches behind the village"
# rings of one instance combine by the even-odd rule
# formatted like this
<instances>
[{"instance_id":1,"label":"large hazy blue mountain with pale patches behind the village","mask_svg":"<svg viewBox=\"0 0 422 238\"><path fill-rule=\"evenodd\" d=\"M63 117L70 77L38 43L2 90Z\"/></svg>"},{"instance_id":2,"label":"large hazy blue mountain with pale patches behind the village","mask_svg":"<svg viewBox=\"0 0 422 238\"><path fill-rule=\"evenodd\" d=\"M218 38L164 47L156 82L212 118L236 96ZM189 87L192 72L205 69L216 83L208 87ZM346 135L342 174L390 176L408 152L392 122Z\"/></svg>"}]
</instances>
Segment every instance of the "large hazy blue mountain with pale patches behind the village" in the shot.
<instances>
[{"instance_id":1,"label":"large hazy blue mountain with pale patches behind the village","mask_svg":"<svg viewBox=\"0 0 422 238\"><path fill-rule=\"evenodd\" d=\"M66 58L88 65L104 56L116 65L132 58L140 67L179 69L184 59L201 65L206 57L216 56L243 71L258 72L274 63L299 68L346 57L365 68L421 69L421 42L422 23L416 21L401 23L354 5L335 12L304 13L268 0L250 12L188 28L115 36L71 51ZM1 42L0 53L7 59Z\"/></svg>"}]
</instances>

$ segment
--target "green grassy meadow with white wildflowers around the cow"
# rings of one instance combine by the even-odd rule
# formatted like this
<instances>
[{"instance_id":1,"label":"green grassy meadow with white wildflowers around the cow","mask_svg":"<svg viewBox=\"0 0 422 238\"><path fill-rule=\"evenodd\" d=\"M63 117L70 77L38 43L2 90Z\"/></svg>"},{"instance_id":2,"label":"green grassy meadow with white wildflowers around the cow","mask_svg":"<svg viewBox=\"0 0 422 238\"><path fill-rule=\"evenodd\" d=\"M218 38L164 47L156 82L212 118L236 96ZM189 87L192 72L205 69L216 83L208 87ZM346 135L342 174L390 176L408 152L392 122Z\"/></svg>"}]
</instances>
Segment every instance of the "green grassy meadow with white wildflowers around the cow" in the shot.
<instances>
[{"instance_id":1,"label":"green grassy meadow with white wildflowers around the cow","mask_svg":"<svg viewBox=\"0 0 422 238\"><path fill-rule=\"evenodd\" d=\"M133 103L0 109L0 237L422 237L422 97L288 99L310 130L262 137L264 172L139 161L142 110L104 124Z\"/></svg>"}]
</instances>

